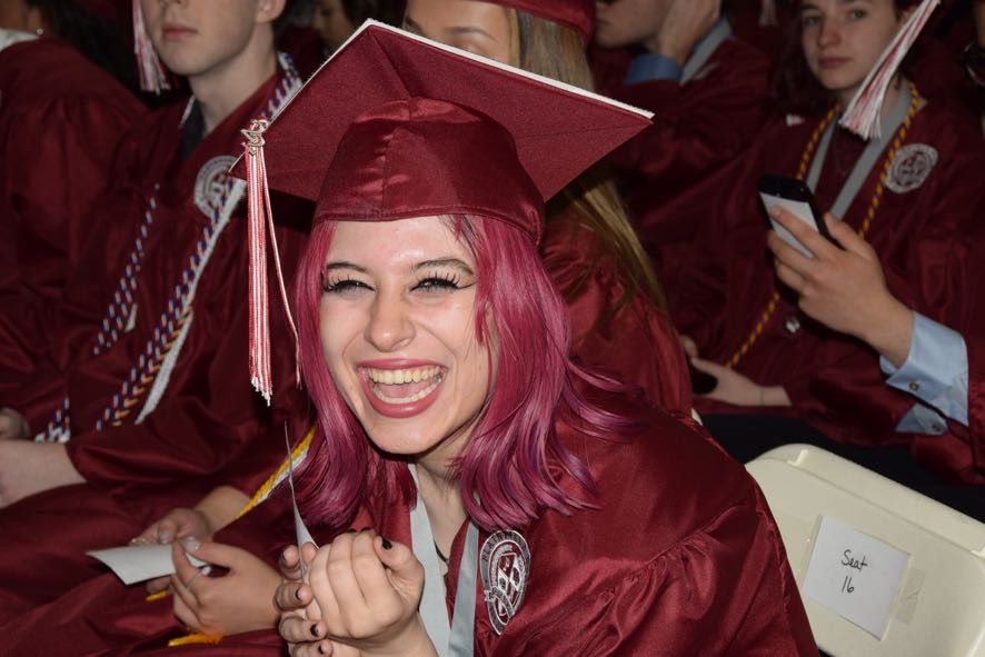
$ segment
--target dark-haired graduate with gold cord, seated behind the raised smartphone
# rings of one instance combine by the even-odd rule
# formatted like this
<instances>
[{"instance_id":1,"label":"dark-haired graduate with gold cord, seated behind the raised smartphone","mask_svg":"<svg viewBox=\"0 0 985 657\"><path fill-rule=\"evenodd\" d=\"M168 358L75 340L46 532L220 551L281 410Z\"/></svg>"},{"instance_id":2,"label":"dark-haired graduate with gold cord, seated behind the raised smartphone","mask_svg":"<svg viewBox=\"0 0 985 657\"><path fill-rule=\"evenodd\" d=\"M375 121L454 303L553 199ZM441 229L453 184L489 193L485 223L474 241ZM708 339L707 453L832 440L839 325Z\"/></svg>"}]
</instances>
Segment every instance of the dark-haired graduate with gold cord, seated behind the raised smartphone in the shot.
<instances>
[{"instance_id":1,"label":"dark-haired graduate with gold cord, seated behind the raised smartphone","mask_svg":"<svg viewBox=\"0 0 985 657\"><path fill-rule=\"evenodd\" d=\"M885 385L876 350L798 308L798 295L774 270L757 195L764 173L804 181L818 208L872 246L894 297L938 323L961 322L966 335L981 330L985 317L968 291L983 273L975 172L985 153L963 110L926 99L897 72L882 108L882 138L866 142L837 127L911 9L893 0L802 2L799 48L779 72L786 91L778 98L789 111L743 160L706 182L713 207L666 209L705 221L700 248L671 289L671 315L693 365L718 379L696 407L738 458L797 440L897 446L853 452L872 455L876 466L889 451L908 464L915 457L933 476L917 467L912 478L883 471L917 488L922 477L985 484L974 432L959 422L939 434L901 430L913 397ZM864 282L853 278L850 286Z\"/></svg>"}]
</instances>

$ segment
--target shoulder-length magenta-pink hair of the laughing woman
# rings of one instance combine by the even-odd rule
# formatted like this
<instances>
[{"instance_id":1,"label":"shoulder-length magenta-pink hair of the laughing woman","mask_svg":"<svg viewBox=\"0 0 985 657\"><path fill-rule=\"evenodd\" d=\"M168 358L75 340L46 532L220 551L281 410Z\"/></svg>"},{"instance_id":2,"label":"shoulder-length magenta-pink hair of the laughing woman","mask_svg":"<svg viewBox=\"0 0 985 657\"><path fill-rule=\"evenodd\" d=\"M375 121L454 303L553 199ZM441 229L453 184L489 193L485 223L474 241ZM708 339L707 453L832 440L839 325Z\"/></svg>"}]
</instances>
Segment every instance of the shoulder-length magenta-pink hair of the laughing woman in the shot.
<instances>
[{"instance_id":1,"label":"shoulder-length magenta-pink hair of the laughing woman","mask_svg":"<svg viewBox=\"0 0 985 657\"><path fill-rule=\"evenodd\" d=\"M454 221L476 257L477 339L486 344L495 336L498 352L491 394L457 464L466 509L484 529L494 530L521 527L545 508L568 514L590 507L558 481L567 472L587 492L596 491L584 464L561 444L555 421L565 412L598 437L634 432L640 428L638 418L588 404L575 392L574 379L589 387L625 388L570 361L567 307L527 235L496 219ZM300 478L306 510L341 528L368 495L412 504L416 488L401 461L375 449L324 360L321 270L334 231L332 222L315 228L298 277L301 368L325 437L312 445Z\"/></svg>"}]
</instances>

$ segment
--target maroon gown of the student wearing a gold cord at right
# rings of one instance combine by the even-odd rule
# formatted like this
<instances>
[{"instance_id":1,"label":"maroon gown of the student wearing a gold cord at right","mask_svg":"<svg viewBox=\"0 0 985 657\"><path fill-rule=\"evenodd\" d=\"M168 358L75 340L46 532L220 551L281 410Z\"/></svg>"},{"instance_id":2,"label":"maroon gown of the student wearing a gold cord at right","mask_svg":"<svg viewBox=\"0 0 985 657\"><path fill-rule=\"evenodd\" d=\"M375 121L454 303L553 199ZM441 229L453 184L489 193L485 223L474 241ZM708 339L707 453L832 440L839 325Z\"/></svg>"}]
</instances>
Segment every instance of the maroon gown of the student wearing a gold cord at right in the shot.
<instances>
[{"instance_id":1,"label":"maroon gown of the student wearing a gold cord at right","mask_svg":"<svg viewBox=\"0 0 985 657\"><path fill-rule=\"evenodd\" d=\"M753 331L776 287L756 181L764 172L797 173L819 118L800 121L798 117L777 119L746 158L666 208L694 220L705 213L714 219L699 238L693 266L669 290L678 330L697 342L706 359L728 361ZM985 321L981 303L968 293L971 281L983 275L976 249L981 249L985 226L974 209L981 207L982 195L975 172L983 170L985 153L981 136L967 132L966 126L943 103L924 107L903 145L931 147L936 163L916 189L885 190L866 239L879 255L894 296L941 323L961 326L974 339ZM815 190L822 211L834 202L863 147L844 131L834 141ZM869 207L880 167L874 167L844 217L856 229ZM973 450L981 454L981 434L897 432L913 398L885 385L872 349L799 313L789 290L736 369L759 385L785 388L793 408L770 408L769 414L796 414L840 442L908 444L918 459L945 479L985 481L981 460L976 465L972 459ZM762 407L735 407L705 398L696 398L696 406L702 412L764 412Z\"/></svg>"}]
</instances>

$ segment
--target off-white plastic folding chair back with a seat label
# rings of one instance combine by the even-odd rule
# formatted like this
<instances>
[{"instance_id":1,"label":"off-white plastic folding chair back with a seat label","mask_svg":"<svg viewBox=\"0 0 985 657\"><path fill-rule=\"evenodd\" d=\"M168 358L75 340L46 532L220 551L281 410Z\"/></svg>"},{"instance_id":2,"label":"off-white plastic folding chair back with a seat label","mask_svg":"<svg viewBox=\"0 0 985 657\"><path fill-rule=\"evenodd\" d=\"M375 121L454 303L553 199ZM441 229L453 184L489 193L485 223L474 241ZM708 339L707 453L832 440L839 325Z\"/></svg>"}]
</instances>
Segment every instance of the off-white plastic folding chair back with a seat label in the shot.
<instances>
[{"instance_id":1,"label":"off-white plastic folding chair back with a seat label","mask_svg":"<svg viewBox=\"0 0 985 657\"><path fill-rule=\"evenodd\" d=\"M823 650L835 657L985 656L985 525L809 445L776 448L746 468L779 525L810 627ZM834 520L909 555L902 579L889 578L901 585L895 596L887 598L892 607L880 637L810 595L818 590L822 565L830 567L833 563L830 547L824 544L835 544L829 538L817 544L823 518L827 519L826 537L833 536L828 528ZM846 538L844 542L850 541ZM816 545L822 547L815 550ZM814 566L812 558L817 559ZM845 573L843 591L845 586L852 588L848 577L856 570L837 567ZM810 578L815 584L805 590L808 568L815 568ZM820 581L829 591L830 581L842 575L825 573L826 579ZM853 603L860 600L865 598L855 597Z\"/></svg>"}]
</instances>

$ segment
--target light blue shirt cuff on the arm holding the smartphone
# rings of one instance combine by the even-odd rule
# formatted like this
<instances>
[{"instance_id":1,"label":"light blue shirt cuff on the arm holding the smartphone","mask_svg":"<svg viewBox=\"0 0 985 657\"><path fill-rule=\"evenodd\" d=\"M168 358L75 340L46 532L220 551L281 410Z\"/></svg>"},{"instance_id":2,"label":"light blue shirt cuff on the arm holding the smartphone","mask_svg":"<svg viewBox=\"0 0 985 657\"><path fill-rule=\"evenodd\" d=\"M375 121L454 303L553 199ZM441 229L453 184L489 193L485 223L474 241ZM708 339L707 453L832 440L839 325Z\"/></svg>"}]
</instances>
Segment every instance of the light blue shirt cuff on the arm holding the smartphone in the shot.
<instances>
[{"instance_id":1,"label":"light blue shirt cuff on the arm holding the smartphone","mask_svg":"<svg viewBox=\"0 0 985 657\"><path fill-rule=\"evenodd\" d=\"M896 369L885 358L879 358L879 367L889 375L886 384L931 407L914 406L899 422L898 431L943 434L946 427L941 415L967 426L968 351L961 334L914 312L913 337L903 367Z\"/></svg>"}]
</instances>

